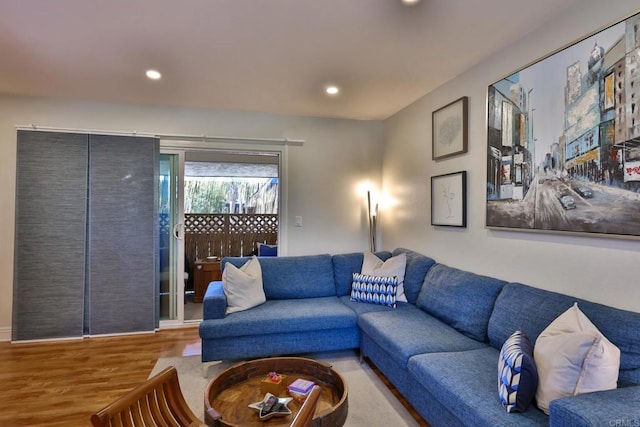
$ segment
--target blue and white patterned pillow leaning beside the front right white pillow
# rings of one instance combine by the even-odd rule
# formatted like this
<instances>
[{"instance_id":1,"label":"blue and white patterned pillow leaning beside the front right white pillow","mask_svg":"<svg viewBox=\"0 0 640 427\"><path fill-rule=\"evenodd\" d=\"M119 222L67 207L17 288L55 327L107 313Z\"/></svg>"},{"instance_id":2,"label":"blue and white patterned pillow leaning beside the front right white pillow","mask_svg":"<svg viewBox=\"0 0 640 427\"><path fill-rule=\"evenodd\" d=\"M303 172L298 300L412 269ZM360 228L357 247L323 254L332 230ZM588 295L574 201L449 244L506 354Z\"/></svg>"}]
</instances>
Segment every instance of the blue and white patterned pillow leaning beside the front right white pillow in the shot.
<instances>
[{"instance_id":1,"label":"blue and white patterned pillow leaning beside the front right white pillow","mask_svg":"<svg viewBox=\"0 0 640 427\"><path fill-rule=\"evenodd\" d=\"M504 342L498 358L498 393L502 406L507 412L524 412L537 389L533 345L524 332L516 331Z\"/></svg>"}]
</instances>

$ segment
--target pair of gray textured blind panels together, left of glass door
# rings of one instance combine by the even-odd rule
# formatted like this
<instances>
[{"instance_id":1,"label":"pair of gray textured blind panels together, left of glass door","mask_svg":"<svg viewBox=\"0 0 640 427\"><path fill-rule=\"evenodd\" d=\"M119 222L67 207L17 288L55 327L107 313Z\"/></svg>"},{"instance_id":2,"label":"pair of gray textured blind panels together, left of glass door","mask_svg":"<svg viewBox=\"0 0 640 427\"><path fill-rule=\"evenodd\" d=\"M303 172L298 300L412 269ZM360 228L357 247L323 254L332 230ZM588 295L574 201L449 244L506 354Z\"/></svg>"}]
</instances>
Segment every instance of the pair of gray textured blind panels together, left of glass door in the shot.
<instances>
[{"instance_id":1,"label":"pair of gray textured blind panels together, left of glass door","mask_svg":"<svg viewBox=\"0 0 640 427\"><path fill-rule=\"evenodd\" d=\"M155 138L18 132L14 340L158 325Z\"/></svg>"}]
</instances>

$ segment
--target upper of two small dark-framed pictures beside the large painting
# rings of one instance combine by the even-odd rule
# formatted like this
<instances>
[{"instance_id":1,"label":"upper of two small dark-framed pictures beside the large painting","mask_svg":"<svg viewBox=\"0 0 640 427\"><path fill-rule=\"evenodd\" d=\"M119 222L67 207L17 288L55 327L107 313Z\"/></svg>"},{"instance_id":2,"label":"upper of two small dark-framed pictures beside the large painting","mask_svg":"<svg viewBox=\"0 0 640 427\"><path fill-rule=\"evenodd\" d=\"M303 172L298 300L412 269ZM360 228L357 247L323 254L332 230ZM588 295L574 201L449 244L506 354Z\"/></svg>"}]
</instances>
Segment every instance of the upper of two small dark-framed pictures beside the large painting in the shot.
<instances>
[{"instance_id":1,"label":"upper of two small dark-framed pictures beside the large painting","mask_svg":"<svg viewBox=\"0 0 640 427\"><path fill-rule=\"evenodd\" d=\"M432 113L432 159L467 152L468 98L463 96Z\"/></svg>"}]
</instances>

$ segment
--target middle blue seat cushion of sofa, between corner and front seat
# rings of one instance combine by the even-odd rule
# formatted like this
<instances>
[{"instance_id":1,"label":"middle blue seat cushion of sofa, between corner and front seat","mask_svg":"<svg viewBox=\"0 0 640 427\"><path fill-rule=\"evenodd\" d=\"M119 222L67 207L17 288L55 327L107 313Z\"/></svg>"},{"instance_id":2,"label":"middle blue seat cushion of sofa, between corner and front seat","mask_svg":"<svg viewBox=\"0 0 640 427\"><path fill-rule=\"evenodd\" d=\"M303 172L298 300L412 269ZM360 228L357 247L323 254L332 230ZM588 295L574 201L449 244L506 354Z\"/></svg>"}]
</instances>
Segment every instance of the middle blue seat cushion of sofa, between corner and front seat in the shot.
<instances>
[{"instance_id":1,"label":"middle blue seat cushion of sofa, between corner and front seat","mask_svg":"<svg viewBox=\"0 0 640 427\"><path fill-rule=\"evenodd\" d=\"M400 306L399 306L400 307ZM375 311L361 314L358 325L380 347L389 352L400 366L416 354L471 350L486 344L462 335L451 326L419 308L406 304L402 309ZM494 392L495 392L495 367Z\"/></svg>"}]
</instances>

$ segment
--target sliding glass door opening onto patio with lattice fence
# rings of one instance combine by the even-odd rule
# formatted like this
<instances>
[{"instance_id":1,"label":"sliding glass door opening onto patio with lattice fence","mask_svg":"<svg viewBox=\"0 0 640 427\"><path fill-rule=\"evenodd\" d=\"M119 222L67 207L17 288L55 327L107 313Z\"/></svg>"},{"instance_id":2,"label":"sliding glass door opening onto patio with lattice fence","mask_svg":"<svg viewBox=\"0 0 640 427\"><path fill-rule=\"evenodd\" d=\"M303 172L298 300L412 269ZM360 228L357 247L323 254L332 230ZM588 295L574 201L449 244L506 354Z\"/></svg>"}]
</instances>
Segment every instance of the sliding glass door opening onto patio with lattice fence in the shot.
<instances>
[{"instance_id":1,"label":"sliding glass door opening onto patio with lattice fence","mask_svg":"<svg viewBox=\"0 0 640 427\"><path fill-rule=\"evenodd\" d=\"M210 280L220 280L220 258L281 243L286 147L212 145L161 141L160 327L202 320L202 297Z\"/></svg>"}]
</instances>

